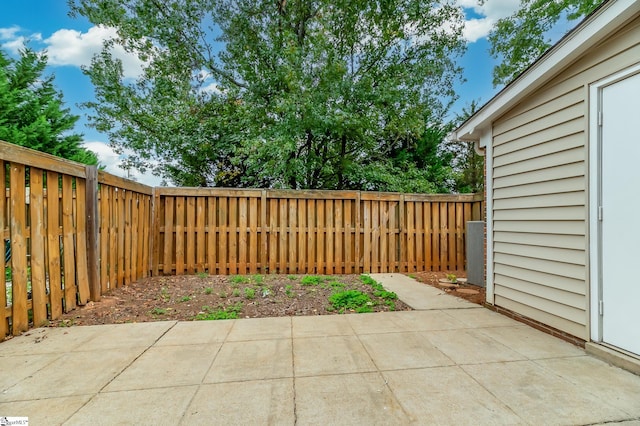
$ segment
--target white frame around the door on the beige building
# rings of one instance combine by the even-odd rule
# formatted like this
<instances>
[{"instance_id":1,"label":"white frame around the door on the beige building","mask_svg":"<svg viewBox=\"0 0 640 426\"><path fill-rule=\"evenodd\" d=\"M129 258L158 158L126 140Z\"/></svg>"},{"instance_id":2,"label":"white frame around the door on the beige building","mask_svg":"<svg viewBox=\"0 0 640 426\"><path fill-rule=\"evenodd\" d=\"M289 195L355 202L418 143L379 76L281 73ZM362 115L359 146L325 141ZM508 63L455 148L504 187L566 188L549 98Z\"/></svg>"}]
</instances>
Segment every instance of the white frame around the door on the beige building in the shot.
<instances>
[{"instance_id":1,"label":"white frame around the door on the beige building","mask_svg":"<svg viewBox=\"0 0 640 426\"><path fill-rule=\"evenodd\" d=\"M640 74L640 63L617 71L589 85L589 322L590 340L602 342L602 90L621 80Z\"/></svg>"}]
</instances>

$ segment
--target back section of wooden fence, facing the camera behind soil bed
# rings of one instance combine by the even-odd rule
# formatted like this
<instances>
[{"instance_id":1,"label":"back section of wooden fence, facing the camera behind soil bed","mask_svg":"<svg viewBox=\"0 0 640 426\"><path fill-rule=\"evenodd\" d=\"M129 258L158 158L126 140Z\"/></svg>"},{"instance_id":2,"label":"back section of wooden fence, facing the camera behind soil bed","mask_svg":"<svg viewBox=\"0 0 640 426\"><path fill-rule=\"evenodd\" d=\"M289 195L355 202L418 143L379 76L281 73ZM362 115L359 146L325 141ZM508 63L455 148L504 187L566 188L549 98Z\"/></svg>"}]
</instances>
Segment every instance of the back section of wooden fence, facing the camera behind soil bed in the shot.
<instances>
[{"instance_id":1,"label":"back section of wooden fence, facing the camera behind soil bed","mask_svg":"<svg viewBox=\"0 0 640 426\"><path fill-rule=\"evenodd\" d=\"M154 274L464 270L479 195L155 188Z\"/></svg>"}]
</instances>

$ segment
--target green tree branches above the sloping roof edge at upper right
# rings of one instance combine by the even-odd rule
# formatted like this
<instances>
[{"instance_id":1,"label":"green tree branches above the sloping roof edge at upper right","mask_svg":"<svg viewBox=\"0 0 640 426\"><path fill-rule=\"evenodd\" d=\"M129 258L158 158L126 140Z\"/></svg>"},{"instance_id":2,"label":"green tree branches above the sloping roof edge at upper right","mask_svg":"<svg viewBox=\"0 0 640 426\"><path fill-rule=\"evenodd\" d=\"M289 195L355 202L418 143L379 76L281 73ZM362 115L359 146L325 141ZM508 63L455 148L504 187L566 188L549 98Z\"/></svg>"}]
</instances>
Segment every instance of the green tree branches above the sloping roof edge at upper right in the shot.
<instances>
[{"instance_id":1,"label":"green tree branches above the sloping roof edge at upper right","mask_svg":"<svg viewBox=\"0 0 640 426\"><path fill-rule=\"evenodd\" d=\"M487 1L487 0L481 0ZM494 86L507 84L549 47L549 30L558 21L575 21L593 12L603 0L521 0L520 9L500 19L491 34L491 55L501 63L493 70Z\"/></svg>"}]
</instances>

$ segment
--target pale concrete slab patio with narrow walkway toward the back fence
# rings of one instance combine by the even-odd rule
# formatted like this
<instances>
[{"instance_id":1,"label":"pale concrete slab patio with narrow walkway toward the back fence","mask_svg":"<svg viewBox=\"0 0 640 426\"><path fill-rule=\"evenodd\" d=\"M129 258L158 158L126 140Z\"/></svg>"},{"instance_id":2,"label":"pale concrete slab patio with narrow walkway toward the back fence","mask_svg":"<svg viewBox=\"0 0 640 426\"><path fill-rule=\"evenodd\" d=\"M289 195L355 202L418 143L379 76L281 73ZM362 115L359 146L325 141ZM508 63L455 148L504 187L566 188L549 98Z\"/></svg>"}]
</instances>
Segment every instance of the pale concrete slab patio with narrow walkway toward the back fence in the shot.
<instances>
[{"instance_id":1,"label":"pale concrete slab patio with narrow walkway toward the back fence","mask_svg":"<svg viewBox=\"0 0 640 426\"><path fill-rule=\"evenodd\" d=\"M41 328L0 344L30 424L640 425L640 376L378 275L410 312Z\"/></svg>"}]
</instances>

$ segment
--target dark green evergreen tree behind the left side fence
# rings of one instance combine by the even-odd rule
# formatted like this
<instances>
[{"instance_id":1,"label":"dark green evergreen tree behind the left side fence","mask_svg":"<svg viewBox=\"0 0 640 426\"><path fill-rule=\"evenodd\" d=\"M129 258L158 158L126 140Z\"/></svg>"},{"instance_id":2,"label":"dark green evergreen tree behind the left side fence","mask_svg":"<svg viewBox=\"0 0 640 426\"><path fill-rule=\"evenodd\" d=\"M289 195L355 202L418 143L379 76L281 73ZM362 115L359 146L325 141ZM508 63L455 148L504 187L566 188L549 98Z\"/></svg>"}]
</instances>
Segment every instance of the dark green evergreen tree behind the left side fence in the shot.
<instances>
[{"instance_id":1,"label":"dark green evergreen tree behind the left side fence","mask_svg":"<svg viewBox=\"0 0 640 426\"><path fill-rule=\"evenodd\" d=\"M98 158L70 133L78 116L64 108L53 76L43 76L47 57L30 49L13 59L0 51L0 140L84 164Z\"/></svg>"}]
</instances>

